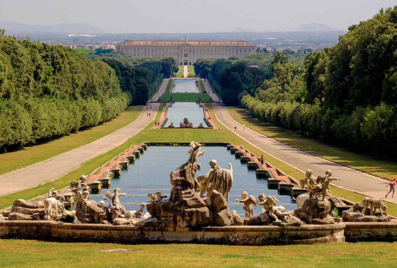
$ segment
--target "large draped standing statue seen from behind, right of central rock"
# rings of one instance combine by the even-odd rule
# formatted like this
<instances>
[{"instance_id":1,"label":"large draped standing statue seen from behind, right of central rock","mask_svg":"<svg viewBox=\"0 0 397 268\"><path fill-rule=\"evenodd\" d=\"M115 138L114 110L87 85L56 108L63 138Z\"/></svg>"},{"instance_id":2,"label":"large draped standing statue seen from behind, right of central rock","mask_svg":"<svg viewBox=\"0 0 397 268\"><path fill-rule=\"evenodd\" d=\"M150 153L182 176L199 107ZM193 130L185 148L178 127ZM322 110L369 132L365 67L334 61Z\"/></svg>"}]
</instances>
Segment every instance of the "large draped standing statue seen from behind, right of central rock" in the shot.
<instances>
[{"instance_id":1,"label":"large draped standing statue seen from behind, right of central rock","mask_svg":"<svg viewBox=\"0 0 397 268\"><path fill-rule=\"evenodd\" d=\"M202 177L200 175L200 183L203 185L201 187L202 194L206 191L215 190L221 193L226 201L229 201L229 192L231 189L231 184L233 183L233 168L229 163L229 169L221 168L218 166L216 160L210 161L211 169L208 170L207 174Z\"/></svg>"}]
</instances>

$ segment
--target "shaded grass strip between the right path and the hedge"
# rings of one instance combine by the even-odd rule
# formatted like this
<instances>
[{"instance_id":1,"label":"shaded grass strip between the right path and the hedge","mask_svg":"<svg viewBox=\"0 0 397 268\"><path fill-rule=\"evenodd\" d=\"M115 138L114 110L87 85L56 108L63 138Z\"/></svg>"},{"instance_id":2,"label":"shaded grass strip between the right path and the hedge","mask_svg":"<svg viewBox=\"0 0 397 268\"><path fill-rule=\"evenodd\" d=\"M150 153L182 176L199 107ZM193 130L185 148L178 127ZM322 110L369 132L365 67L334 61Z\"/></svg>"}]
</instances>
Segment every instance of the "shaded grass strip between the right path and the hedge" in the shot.
<instances>
[{"instance_id":1,"label":"shaded grass strip between the right path and the hedge","mask_svg":"<svg viewBox=\"0 0 397 268\"><path fill-rule=\"evenodd\" d=\"M299 133L264 123L252 116L246 109L227 107L233 118L264 135L289 143L295 147L318 154L325 158L367 170L380 176L394 178L397 175L397 163L380 159L368 154L352 152L347 148L333 146L317 139L305 137Z\"/></svg>"}]
</instances>

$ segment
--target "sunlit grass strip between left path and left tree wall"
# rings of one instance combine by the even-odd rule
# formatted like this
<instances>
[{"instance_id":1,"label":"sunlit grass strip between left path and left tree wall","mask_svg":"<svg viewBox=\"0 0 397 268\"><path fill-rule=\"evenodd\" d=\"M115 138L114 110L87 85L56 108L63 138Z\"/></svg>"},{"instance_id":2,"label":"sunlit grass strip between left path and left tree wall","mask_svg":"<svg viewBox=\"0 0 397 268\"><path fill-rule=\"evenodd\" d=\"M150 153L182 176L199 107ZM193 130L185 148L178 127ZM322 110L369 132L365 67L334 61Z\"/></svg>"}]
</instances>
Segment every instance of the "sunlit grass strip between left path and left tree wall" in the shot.
<instances>
[{"instance_id":1,"label":"sunlit grass strip between left path and left tree wall","mask_svg":"<svg viewBox=\"0 0 397 268\"><path fill-rule=\"evenodd\" d=\"M137 119L143 106L129 106L115 119L44 143L0 154L0 174L23 168L91 143Z\"/></svg>"}]
</instances>

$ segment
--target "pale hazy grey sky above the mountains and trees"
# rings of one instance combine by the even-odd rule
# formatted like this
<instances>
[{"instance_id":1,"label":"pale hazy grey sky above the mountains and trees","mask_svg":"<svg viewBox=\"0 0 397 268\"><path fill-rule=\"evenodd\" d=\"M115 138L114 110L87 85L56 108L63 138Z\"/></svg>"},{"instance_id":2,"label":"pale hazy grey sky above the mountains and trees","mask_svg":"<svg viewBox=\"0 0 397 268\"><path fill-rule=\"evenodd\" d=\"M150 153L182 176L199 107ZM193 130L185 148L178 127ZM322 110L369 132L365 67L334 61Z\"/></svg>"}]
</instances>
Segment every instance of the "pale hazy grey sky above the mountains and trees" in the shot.
<instances>
[{"instance_id":1,"label":"pale hazy grey sky above the mountains and trees","mask_svg":"<svg viewBox=\"0 0 397 268\"><path fill-rule=\"evenodd\" d=\"M108 33L229 32L236 27L295 31L324 23L346 30L393 0L2 0L1 22L85 22Z\"/></svg>"}]
</instances>

